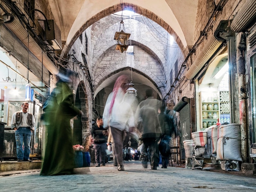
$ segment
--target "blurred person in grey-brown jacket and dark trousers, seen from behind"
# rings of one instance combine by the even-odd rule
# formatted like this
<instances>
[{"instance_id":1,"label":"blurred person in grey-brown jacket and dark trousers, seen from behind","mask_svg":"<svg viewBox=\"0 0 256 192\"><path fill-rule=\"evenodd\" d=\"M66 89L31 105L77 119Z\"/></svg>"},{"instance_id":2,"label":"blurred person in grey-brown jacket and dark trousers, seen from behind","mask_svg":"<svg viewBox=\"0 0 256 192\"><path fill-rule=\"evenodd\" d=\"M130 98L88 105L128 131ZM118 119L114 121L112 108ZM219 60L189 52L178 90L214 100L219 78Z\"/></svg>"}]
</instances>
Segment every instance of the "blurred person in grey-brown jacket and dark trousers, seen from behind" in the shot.
<instances>
[{"instance_id":1,"label":"blurred person in grey-brown jacket and dark trousers, seen from behind","mask_svg":"<svg viewBox=\"0 0 256 192\"><path fill-rule=\"evenodd\" d=\"M136 124L142 132L142 141L144 147L141 153L146 154L147 149L150 156L150 165L152 170L157 170L159 162L158 144L161 136L161 129L158 123L158 109L161 101L153 98L152 89L146 90L146 99L139 103L136 110ZM147 161L141 161L142 166L147 168Z\"/></svg>"}]
</instances>

